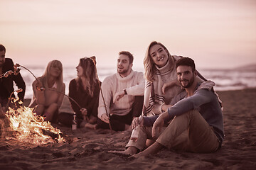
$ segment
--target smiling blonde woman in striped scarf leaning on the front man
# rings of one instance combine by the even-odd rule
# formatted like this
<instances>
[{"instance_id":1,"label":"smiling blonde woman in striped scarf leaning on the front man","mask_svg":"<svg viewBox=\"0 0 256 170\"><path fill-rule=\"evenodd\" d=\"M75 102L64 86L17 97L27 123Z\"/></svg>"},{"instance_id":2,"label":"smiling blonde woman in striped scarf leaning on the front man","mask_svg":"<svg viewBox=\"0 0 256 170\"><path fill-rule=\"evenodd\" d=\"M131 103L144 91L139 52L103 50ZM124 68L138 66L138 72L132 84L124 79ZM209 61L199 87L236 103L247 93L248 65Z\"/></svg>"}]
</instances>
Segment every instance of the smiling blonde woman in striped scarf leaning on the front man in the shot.
<instances>
[{"instance_id":1,"label":"smiling blonde woman in striped scarf leaning on the front man","mask_svg":"<svg viewBox=\"0 0 256 170\"><path fill-rule=\"evenodd\" d=\"M181 92L175 70L175 62L180 58L170 55L160 42L150 43L144 57L146 86L143 115L158 115L166 111L174 96Z\"/></svg>"}]
</instances>

